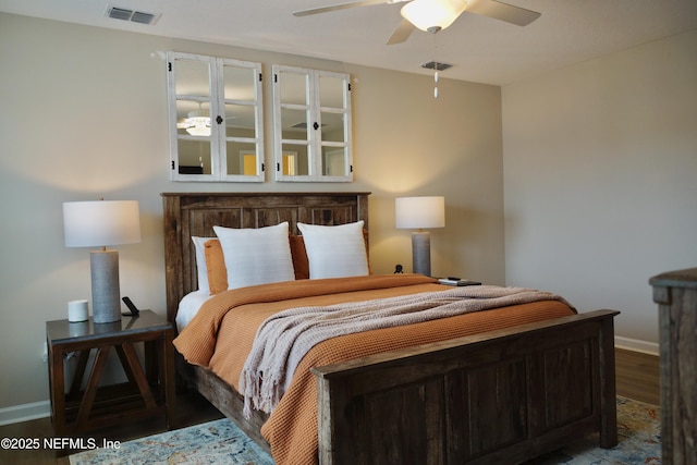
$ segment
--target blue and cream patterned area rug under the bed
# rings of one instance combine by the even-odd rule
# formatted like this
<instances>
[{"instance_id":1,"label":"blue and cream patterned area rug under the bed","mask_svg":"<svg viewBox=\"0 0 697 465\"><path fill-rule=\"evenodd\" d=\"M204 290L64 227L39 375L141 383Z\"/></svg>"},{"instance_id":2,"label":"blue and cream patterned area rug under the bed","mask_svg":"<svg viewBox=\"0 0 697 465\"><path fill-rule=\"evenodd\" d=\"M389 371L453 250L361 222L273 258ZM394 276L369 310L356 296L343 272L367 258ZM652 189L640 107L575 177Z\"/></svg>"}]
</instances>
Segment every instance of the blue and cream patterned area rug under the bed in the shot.
<instances>
[{"instance_id":1,"label":"blue and cream patterned area rug under the bed","mask_svg":"<svg viewBox=\"0 0 697 465\"><path fill-rule=\"evenodd\" d=\"M661 463L659 408L617 397L620 443L598 448L591 435L527 465L626 465ZM254 441L228 419L206 423L124 442L119 449L96 449L71 455L72 465L234 464L273 465Z\"/></svg>"}]
</instances>

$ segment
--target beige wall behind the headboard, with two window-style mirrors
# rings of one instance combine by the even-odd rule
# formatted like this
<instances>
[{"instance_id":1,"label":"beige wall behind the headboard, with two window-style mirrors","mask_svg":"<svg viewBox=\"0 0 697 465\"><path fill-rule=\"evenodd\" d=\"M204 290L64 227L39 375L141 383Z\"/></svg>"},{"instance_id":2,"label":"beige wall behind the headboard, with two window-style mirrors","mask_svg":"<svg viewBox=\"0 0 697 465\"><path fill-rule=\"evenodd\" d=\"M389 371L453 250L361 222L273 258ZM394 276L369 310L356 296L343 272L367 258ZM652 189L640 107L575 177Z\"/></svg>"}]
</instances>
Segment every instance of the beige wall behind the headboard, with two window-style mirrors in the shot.
<instances>
[{"instance_id":1,"label":"beige wall behind the headboard, with two window-style mirrors","mask_svg":"<svg viewBox=\"0 0 697 465\"><path fill-rule=\"evenodd\" d=\"M156 53L168 50L258 61L267 75L273 63L351 73L355 182L170 182L164 63ZM160 313L161 192L372 192L376 272L411 268L409 232L394 229L393 198L444 195L433 273L504 282L499 87L445 78L433 100L428 76L8 14L0 14L0 421L12 414L4 407L48 399L45 321L65 318L68 301L89 298L89 254L64 247L63 201L139 200L143 242L118 247L121 290Z\"/></svg>"}]
</instances>

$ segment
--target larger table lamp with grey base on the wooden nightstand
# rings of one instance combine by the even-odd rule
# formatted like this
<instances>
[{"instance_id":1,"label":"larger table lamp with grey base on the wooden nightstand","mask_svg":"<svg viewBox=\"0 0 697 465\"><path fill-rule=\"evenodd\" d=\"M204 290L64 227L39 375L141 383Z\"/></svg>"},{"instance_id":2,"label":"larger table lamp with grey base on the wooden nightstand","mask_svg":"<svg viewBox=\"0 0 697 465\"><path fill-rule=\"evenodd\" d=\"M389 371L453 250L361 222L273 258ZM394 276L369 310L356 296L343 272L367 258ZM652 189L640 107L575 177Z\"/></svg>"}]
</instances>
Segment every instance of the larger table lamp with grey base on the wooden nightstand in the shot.
<instances>
[{"instance_id":1,"label":"larger table lamp with grey base on the wooden nightstand","mask_svg":"<svg viewBox=\"0 0 697 465\"><path fill-rule=\"evenodd\" d=\"M91 308L95 323L121 320L119 253L108 245L140 242L136 200L68 201L63 204L66 247L95 247L89 253Z\"/></svg>"}]
</instances>

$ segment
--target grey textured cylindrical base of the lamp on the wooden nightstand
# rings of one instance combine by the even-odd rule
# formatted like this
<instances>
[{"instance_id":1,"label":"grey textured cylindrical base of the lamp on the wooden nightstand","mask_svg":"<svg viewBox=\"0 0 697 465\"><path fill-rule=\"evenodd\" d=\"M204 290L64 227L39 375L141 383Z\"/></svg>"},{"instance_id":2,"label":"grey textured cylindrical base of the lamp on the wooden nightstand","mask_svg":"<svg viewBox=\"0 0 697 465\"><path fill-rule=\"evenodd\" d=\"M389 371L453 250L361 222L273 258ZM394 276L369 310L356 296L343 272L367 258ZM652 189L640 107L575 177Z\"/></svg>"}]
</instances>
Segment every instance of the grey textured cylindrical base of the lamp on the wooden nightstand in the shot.
<instances>
[{"instance_id":1,"label":"grey textured cylindrical base of the lamp on the wooden nightstand","mask_svg":"<svg viewBox=\"0 0 697 465\"><path fill-rule=\"evenodd\" d=\"M89 270L94 321L96 323L120 321L119 253L117 250L90 252Z\"/></svg>"}]
</instances>

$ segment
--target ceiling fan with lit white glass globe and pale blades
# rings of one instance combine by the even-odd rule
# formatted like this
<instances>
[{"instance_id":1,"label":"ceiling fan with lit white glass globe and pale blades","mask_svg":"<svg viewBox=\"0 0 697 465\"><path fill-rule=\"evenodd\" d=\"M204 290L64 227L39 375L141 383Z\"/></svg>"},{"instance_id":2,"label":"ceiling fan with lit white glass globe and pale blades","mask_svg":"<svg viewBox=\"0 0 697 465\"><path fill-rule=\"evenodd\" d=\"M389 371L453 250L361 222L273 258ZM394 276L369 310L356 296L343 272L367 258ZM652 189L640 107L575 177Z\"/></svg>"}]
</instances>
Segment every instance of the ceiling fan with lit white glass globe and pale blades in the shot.
<instances>
[{"instance_id":1,"label":"ceiling fan with lit white glass globe and pale blades","mask_svg":"<svg viewBox=\"0 0 697 465\"><path fill-rule=\"evenodd\" d=\"M497 0L362 0L299 10L293 12L293 15L307 16L383 3L406 3L401 10L402 22L388 40L388 45L405 41L415 28L435 34L450 26L463 12L493 17L518 26L526 26L540 16L536 11Z\"/></svg>"}]
</instances>

